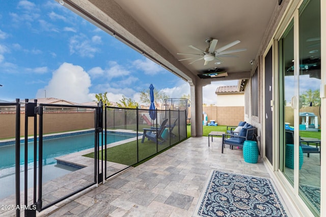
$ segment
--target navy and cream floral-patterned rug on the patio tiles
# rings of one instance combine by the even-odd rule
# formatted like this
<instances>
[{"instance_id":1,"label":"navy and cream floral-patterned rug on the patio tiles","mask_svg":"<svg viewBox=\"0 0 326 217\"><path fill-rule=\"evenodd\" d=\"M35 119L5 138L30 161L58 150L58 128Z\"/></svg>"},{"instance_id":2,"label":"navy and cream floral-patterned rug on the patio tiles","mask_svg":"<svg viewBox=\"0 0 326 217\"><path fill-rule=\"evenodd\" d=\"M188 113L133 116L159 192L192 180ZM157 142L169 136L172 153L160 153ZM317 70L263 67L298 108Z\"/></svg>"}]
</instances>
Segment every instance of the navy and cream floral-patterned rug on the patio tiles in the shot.
<instances>
[{"instance_id":1,"label":"navy and cream floral-patterned rug on the patio tiles","mask_svg":"<svg viewBox=\"0 0 326 217\"><path fill-rule=\"evenodd\" d=\"M212 170L194 216L287 216L268 178Z\"/></svg>"}]
</instances>

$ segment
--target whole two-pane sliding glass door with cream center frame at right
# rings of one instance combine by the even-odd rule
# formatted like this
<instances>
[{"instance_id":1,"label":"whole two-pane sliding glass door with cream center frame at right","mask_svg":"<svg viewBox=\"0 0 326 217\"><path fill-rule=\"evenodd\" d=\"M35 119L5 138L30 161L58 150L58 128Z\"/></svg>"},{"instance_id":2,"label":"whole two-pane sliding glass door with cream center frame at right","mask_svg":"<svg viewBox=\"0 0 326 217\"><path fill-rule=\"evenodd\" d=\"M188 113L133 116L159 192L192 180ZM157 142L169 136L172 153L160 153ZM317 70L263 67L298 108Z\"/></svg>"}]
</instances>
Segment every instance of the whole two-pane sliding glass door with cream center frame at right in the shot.
<instances>
[{"instance_id":1,"label":"whole two-pane sliding glass door with cream center frame at right","mask_svg":"<svg viewBox=\"0 0 326 217\"><path fill-rule=\"evenodd\" d=\"M320 215L320 1L305 0L279 40L279 170Z\"/></svg>"}]
</instances>

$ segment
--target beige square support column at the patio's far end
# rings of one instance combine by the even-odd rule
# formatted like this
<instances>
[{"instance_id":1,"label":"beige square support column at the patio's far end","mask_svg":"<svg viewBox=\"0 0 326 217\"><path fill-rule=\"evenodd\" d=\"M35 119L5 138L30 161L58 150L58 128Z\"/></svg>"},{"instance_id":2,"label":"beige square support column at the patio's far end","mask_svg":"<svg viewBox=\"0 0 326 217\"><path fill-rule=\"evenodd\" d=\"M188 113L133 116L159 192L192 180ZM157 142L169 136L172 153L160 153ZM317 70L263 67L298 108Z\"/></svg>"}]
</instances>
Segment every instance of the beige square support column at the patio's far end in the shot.
<instances>
[{"instance_id":1,"label":"beige square support column at the patio's far end","mask_svg":"<svg viewBox=\"0 0 326 217\"><path fill-rule=\"evenodd\" d=\"M203 86L198 83L190 84L192 137L203 136Z\"/></svg>"}]
</instances>

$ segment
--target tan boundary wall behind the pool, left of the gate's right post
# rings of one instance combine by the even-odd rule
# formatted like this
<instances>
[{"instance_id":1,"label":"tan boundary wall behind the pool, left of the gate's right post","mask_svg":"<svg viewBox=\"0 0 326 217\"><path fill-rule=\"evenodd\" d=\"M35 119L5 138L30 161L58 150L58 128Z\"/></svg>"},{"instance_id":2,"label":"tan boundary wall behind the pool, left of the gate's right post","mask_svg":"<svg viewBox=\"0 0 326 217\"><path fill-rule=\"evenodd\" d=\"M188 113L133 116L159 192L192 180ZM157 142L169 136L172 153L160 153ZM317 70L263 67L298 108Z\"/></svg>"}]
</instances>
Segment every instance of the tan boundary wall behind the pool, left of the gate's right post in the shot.
<instances>
[{"instance_id":1,"label":"tan boundary wall behind the pool, left of the gate's right post","mask_svg":"<svg viewBox=\"0 0 326 217\"><path fill-rule=\"evenodd\" d=\"M37 115L37 134L39 133ZM14 138L16 126L14 112L0 113L0 139ZM20 136L24 136L25 113L20 113ZM34 134L34 117L28 120L28 135ZM43 114L43 134L94 129L94 112L53 112Z\"/></svg>"}]
</instances>

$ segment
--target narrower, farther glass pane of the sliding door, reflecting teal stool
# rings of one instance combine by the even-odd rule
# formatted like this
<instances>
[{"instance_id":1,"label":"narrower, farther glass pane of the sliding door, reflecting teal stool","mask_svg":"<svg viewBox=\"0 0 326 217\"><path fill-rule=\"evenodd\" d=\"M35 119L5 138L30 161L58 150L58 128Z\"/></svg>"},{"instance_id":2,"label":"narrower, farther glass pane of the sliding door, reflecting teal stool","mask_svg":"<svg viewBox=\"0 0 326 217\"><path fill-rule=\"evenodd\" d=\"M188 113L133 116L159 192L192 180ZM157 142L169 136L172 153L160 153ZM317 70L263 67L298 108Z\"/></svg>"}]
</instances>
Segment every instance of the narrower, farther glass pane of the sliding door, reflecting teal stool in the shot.
<instances>
[{"instance_id":1,"label":"narrower, farther glass pane of the sliding door, reflecting teal stool","mask_svg":"<svg viewBox=\"0 0 326 217\"><path fill-rule=\"evenodd\" d=\"M279 40L280 72L280 159L279 169L294 183L294 109L291 100L295 96L293 20Z\"/></svg>"}]
</instances>

